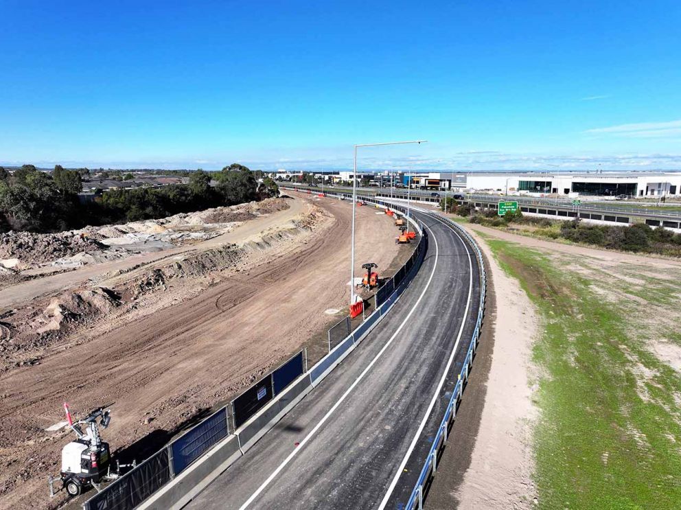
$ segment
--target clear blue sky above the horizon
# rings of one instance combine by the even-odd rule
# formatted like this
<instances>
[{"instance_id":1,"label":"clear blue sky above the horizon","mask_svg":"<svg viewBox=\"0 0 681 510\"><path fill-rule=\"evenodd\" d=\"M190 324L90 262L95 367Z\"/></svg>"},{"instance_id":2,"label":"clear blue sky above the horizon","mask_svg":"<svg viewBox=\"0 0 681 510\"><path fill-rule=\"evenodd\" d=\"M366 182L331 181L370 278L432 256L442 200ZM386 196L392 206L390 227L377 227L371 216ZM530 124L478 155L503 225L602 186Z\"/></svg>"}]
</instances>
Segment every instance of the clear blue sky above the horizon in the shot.
<instances>
[{"instance_id":1,"label":"clear blue sky above the horizon","mask_svg":"<svg viewBox=\"0 0 681 510\"><path fill-rule=\"evenodd\" d=\"M59 5L58 5L59 4ZM0 0L0 163L681 169L681 2Z\"/></svg>"}]
</instances>

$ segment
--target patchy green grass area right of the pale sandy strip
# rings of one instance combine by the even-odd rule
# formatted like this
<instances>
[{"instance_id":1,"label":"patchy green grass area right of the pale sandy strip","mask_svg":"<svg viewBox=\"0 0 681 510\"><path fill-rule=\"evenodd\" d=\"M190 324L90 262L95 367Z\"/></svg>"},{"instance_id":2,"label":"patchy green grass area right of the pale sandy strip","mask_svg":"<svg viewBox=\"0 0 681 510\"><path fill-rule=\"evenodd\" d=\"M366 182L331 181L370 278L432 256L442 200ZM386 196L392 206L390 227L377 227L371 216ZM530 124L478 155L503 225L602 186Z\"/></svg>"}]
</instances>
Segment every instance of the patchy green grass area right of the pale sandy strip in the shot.
<instances>
[{"instance_id":1,"label":"patchy green grass area right of the pale sandy strip","mask_svg":"<svg viewBox=\"0 0 681 510\"><path fill-rule=\"evenodd\" d=\"M540 373L533 434L539 507L680 508L681 377L646 349L640 316L592 288L626 282L571 273L565 267L574 257L487 242L542 323L533 347ZM675 306L671 290L638 291Z\"/></svg>"}]
</instances>

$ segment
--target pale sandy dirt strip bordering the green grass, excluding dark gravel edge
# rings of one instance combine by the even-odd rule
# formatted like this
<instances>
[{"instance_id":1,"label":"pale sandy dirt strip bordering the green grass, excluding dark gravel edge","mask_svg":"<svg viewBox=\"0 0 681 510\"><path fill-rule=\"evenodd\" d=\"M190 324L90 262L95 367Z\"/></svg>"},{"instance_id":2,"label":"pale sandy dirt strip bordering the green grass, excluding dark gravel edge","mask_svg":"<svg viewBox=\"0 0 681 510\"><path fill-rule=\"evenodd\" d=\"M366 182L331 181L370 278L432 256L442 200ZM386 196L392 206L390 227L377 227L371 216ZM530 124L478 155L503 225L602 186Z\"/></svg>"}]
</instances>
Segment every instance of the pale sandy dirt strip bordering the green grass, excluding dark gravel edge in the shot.
<instances>
[{"instance_id":1,"label":"pale sandy dirt strip bordering the green grass, excluding dark gravel edge","mask_svg":"<svg viewBox=\"0 0 681 510\"><path fill-rule=\"evenodd\" d=\"M531 345L538 321L527 294L476 236L494 281L494 351L480 428L456 498L461 509L529 509L535 497Z\"/></svg>"}]
</instances>

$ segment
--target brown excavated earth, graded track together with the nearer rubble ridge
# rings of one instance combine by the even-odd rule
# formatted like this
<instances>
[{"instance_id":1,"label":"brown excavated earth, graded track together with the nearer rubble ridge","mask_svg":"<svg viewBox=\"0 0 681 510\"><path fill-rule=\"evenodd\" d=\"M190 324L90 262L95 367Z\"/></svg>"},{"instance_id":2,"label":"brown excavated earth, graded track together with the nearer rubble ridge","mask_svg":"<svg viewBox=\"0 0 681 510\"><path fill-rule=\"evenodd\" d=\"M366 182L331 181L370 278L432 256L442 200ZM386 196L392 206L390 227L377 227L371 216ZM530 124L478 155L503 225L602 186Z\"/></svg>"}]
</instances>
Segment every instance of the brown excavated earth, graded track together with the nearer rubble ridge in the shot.
<instances>
[{"instance_id":1,"label":"brown excavated earth, graded track together with the nearer rubble ridge","mask_svg":"<svg viewBox=\"0 0 681 510\"><path fill-rule=\"evenodd\" d=\"M331 198L301 201L295 218L242 242L212 240L74 281L0 316L0 508L63 504L62 495L49 500L46 486L73 435L46 430L62 421L62 402L76 415L110 407L104 436L112 450L148 454L338 321L347 304L351 209ZM275 202L258 213L277 211ZM239 220L204 211L194 227L240 221L238 234L253 211L236 212ZM370 207L357 212L356 274L363 262L394 265L408 248L395 246L391 219Z\"/></svg>"}]
</instances>

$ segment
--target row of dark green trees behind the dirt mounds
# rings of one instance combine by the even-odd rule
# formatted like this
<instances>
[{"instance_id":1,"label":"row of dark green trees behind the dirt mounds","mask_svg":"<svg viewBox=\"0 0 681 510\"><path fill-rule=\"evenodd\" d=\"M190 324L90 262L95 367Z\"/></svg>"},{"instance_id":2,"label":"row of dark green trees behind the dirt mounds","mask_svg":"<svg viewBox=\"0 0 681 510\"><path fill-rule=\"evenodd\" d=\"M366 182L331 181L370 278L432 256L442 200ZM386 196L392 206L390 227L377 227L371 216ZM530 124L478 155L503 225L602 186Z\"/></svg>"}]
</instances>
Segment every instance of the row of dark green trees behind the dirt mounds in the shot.
<instances>
[{"instance_id":1,"label":"row of dark green trees behind the dirt mounds","mask_svg":"<svg viewBox=\"0 0 681 510\"><path fill-rule=\"evenodd\" d=\"M212 181L215 185L211 185ZM0 231L58 231L85 225L163 218L181 212L277 196L270 178L258 183L249 168L233 163L221 172L196 170L189 185L112 189L94 201L79 199L82 174L60 165L51 173L24 165L0 167Z\"/></svg>"}]
</instances>

